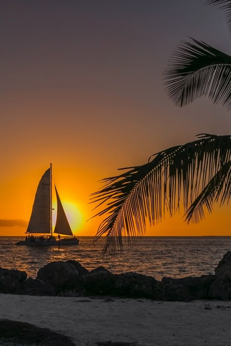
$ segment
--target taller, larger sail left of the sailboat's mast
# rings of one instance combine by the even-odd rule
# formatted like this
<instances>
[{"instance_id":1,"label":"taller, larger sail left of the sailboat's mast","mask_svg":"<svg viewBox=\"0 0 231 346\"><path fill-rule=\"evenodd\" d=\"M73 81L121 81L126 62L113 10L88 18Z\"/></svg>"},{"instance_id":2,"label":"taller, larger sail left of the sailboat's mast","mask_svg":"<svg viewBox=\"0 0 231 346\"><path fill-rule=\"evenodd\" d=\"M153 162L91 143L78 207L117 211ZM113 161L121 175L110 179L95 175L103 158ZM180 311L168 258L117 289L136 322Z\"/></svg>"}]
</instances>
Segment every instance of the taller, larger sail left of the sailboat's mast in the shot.
<instances>
[{"instance_id":1,"label":"taller, larger sail left of the sailboat's mast","mask_svg":"<svg viewBox=\"0 0 231 346\"><path fill-rule=\"evenodd\" d=\"M26 233L51 233L51 171L48 168L39 182Z\"/></svg>"}]
</instances>

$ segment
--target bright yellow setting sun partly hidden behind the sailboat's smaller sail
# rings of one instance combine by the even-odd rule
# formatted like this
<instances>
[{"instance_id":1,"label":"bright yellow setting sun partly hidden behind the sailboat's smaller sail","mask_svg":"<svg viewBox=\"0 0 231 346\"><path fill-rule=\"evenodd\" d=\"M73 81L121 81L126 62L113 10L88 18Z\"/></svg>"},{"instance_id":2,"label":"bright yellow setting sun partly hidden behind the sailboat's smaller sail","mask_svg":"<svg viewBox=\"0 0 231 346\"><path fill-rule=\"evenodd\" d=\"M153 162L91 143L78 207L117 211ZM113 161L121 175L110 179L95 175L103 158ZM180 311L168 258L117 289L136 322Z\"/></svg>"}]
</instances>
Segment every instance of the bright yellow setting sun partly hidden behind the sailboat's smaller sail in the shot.
<instances>
[{"instance_id":1,"label":"bright yellow setting sun partly hidden behind the sailboat's smaller sail","mask_svg":"<svg viewBox=\"0 0 231 346\"><path fill-rule=\"evenodd\" d=\"M68 222L71 226L72 232L75 233L82 225L83 216L75 203L64 200L62 201L62 206L65 211ZM54 210L53 217L52 217L53 225L55 225L56 216L57 216L57 213L56 213L56 210Z\"/></svg>"}]
</instances>

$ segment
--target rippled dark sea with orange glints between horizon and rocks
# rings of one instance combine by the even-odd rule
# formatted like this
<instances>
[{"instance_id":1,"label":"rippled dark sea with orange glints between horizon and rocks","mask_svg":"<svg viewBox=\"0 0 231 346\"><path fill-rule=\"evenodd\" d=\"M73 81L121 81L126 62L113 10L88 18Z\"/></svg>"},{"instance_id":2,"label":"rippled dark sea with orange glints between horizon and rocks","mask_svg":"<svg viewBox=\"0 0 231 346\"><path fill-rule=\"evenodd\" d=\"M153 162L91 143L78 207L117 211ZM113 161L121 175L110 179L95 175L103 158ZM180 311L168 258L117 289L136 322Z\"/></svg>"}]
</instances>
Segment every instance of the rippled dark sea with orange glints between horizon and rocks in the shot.
<instances>
[{"instance_id":1,"label":"rippled dark sea with orange glints between horizon and rocks","mask_svg":"<svg viewBox=\"0 0 231 346\"><path fill-rule=\"evenodd\" d=\"M112 273L136 272L154 276L184 277L213 274L223 255L231 250L231 237L143 237L115 258L100 257L101 238L79 237L78 246L35 248L15 245L22 237L0 237L0 267L24 270L36 277L49 262L75 259L88 270L104 266Z\"/></svg>"}]
</instances>

